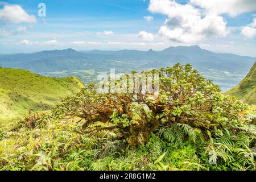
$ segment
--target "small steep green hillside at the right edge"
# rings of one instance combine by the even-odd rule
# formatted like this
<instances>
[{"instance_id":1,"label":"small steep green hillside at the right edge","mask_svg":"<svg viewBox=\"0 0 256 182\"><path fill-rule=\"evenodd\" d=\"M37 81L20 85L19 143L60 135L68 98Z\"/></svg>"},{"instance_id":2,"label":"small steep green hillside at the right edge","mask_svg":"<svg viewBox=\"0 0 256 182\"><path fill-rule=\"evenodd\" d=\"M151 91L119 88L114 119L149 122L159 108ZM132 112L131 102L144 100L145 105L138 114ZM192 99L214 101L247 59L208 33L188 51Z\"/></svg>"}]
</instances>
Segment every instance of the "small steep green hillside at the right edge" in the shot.
<instances>
[{"instance_id":1,"label":"small steep green hillside at the right edge","mask_svg":"<svg viewBox=\"0 0 256 182\"><path fill-rule=\"evenodd\" d=\"M245 78L225 94L236 96L247 104L256 105L256 62Z\"/></svg>"}]
</instances>

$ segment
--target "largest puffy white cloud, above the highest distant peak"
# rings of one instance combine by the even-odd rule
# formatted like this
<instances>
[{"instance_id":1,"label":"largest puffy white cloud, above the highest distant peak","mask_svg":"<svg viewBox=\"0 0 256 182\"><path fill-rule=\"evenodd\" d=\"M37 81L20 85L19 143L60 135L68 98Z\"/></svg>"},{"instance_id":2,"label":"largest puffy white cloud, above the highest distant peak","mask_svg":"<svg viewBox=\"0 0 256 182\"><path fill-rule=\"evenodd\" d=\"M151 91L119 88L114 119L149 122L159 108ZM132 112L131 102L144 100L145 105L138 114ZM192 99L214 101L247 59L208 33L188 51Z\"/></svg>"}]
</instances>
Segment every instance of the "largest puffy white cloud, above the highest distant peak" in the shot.
<instances>
[{"instance_id":1,"label":"largest puffy white cloud, above the highest distant peak","mask_svg":"<svg viewBox=\"0 0 256 182\"><path fill-rule=\"evenodd\" d=\"M195 43L208 37L226 36L228 30L222 16L203 14L190 4L181 5L170 0L151 0L148 10L168 15L159 34L180 43Z\"/></svg>"}]
</instances>

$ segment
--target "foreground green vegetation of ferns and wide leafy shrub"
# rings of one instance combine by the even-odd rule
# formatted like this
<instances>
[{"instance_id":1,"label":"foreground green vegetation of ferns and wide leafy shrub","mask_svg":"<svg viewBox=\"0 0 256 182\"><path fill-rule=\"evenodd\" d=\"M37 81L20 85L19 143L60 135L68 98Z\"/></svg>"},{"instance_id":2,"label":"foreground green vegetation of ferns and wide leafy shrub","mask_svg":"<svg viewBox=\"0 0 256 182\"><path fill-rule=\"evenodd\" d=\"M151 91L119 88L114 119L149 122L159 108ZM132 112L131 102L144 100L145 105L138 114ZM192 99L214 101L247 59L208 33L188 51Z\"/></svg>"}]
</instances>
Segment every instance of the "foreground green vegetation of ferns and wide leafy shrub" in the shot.
<instances>
[{"instance_id":1,"label":"foreground green vegetation of ferns and wide leafy shrub","mask_svg":"<svg viewBox=\"0 0 256 182\"><path fill-rule=\"evenodd\" d=\"M159 75L159 94L97 93L90 84L51 111L2 123L0 169L255 170L246 104L189 64L143 74Z\"/></svg>"}]
</instances>

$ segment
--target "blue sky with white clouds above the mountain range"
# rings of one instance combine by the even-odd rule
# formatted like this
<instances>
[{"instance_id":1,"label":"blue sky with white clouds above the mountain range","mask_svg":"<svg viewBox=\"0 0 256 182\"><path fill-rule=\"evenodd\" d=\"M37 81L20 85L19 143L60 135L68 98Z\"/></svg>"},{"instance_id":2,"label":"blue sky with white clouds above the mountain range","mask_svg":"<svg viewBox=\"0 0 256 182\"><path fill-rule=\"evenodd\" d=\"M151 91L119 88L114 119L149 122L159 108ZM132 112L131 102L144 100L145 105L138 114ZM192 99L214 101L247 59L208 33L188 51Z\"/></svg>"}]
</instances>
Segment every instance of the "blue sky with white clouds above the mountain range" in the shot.
<instances>
[{"instance_id":1,"label":"blue sky with white clouds above the mountain range","mask_svg":"<svg viewBox=\"0 0 256 182\"><path fill-rule=\"evenodd\" d=\"M0 0L0 53L196 44L256 57L256 0Z\"/></svg>"}]
</instances>

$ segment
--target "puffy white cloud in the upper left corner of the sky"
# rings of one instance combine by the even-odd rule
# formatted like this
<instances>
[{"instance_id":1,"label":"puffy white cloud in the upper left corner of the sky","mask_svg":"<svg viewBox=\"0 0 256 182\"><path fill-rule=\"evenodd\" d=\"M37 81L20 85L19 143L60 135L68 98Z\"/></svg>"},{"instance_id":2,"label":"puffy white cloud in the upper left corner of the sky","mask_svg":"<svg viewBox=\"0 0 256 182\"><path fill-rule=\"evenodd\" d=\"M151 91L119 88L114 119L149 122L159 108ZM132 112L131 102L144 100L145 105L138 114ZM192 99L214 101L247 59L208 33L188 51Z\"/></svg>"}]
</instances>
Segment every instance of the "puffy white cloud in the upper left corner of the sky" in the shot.
<instances>
[{"instance_id":1,"label":"puffy white cloud in the upper left corner of the sky","mask_svg":"<svg viewBox=\"0 0 256 182\"><path fill-rule=\"evenodd\" d=\"M36 17L28 15L19 5L4 5L0 10L0 21L12 23L35 23Z\"/></svg>"}]
</instances>

